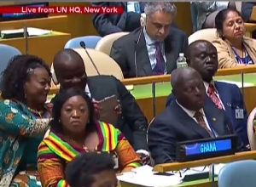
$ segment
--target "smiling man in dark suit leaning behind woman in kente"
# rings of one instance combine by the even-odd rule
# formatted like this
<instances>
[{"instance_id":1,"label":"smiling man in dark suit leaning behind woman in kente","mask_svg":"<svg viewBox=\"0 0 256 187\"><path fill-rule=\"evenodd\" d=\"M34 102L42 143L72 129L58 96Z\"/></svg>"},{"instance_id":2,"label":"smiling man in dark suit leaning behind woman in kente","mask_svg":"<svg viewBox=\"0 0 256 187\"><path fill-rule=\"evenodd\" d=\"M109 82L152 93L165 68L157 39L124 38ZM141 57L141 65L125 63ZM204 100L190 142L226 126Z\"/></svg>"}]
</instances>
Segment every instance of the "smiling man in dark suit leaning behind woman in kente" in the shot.
<instances>
[{"instance_id":1,"label":"smiling man in dark suit leaning behind woman in kente","mask_svg":"<svg viewBox=\"0 0 256 187\"><path fill-rule=\"evenodd\" d=\"M122 82L112 76L87 77L83 59L72 49L64 49L56 54L53 63L61 89L82 88L94 100L116 95L121 106L121 116L113 124L114 127L124 133L140 156L148 158L147 119Z\"/></svg>"}]
</instances>

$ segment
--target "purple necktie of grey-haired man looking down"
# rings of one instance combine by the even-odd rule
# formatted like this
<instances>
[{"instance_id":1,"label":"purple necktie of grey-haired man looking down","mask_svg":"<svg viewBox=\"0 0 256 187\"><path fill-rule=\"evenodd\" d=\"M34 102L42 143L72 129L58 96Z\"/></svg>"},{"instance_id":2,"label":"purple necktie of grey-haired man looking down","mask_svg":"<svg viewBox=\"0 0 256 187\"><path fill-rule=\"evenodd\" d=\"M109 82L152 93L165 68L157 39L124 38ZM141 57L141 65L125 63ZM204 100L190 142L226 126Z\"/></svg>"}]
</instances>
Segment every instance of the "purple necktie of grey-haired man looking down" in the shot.
<instances>
[{"instance_id":1,"label":"purple necktie of grey-haired man looking down","mask_svg":"<svg viewBox=\"0 0 256 187\"><path fill-rule=\"evenodd\" d=\"M154 75L163 75L165 73L165 59L160 49L160 42L155 42L156 65L153 70Z\"/></svg>"}]
</instances>

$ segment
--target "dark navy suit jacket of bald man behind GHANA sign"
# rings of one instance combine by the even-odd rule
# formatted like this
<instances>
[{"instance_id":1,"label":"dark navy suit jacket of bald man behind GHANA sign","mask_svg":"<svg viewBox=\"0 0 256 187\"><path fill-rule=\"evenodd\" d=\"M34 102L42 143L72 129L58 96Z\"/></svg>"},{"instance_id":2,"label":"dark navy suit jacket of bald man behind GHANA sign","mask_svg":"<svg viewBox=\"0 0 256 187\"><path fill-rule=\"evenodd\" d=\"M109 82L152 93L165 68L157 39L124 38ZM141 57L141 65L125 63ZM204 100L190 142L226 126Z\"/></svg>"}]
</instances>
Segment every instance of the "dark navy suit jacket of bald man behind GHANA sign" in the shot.
<instances>
[{"instance_id":1,"label":"dark navy suit jacket of bald man behind GHANA sign","mask_svg":"<svg viewBox=\"0 0 256 187\"><path fill-rule=\"evenodd\" d=\"M218 136L233 133L230 119L210 99L204 107L207 122ZM215 120L213 120L215 118ZM148 149L155 164L176 161L176 143L186 140L210 138L207 131L196 123L173 101L148 128Z\"/></svg>"}]
</instances>

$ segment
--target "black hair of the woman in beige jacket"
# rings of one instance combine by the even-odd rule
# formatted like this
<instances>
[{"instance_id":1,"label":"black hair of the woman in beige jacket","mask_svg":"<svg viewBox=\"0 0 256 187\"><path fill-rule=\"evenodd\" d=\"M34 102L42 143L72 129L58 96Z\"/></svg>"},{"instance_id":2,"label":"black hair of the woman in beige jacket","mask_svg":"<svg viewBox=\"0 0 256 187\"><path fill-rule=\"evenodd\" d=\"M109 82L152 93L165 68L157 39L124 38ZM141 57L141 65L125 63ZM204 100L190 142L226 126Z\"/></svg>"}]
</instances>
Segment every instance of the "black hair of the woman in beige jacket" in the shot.
<instances>
[{"instance_id":1,"label":"black hair of the woman in beige jacket","mask_svg":"<svg viewBox=\"0 0 256 187\"><path fill-rule=\"evenodd\" d=\"M227 14L229 14L230 12L236 12L238 15L241 16L240 12L238 12L236 10L236 8L224 8L224 9L220 10L215 17L215 27L216 27L218 33L223 32L224 20L227 18ZM223 37L223 36L220 36L220 37Z\"/></svg>"}]
</instances>

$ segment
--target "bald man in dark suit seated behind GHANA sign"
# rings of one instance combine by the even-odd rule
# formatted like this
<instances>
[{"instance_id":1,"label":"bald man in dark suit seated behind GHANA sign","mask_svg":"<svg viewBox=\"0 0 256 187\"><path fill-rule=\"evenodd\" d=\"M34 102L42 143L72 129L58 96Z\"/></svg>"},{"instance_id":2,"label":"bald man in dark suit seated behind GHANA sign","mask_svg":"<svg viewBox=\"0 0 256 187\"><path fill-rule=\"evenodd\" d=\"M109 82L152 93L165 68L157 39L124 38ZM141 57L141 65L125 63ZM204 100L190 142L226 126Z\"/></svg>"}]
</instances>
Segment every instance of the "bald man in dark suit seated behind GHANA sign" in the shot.
<instances>
[{"instance_id":1,"label":"bald man in dark suit seated behind GHANA sign","mask_svg":"<svg viewBox=\"0 0 256 187\"><path fill-rule=\"evenodd\" d=\"M172 71L171 102L148 128L148 149L155 164L176 161L176 143L232 134L225 112L207 99L201 75L191 67Z\"/></svg>"}]
</instances>

